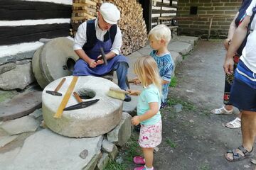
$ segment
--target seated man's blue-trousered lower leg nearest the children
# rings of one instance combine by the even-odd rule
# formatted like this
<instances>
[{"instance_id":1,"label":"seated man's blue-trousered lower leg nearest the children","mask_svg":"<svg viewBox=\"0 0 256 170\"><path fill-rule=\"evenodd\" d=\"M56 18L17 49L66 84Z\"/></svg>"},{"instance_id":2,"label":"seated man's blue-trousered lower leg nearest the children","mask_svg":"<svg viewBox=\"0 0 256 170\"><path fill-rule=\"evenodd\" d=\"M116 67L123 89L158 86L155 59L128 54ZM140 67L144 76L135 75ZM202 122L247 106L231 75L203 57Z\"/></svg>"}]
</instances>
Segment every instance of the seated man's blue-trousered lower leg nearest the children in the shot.
<instances>
[{"instance_id":1,"label":"seated man's blue-trousered lower leg nearest the children","mask_svg":"<svg viewBox=\"0 0 256 170\"><path fill-rule=\"evenodd\" d=\"M127 90L125 79L127 77L128 64L126 62L117 62L114 70L117 72L118 86L123 90Z\"/></svg>"}]
</instances>

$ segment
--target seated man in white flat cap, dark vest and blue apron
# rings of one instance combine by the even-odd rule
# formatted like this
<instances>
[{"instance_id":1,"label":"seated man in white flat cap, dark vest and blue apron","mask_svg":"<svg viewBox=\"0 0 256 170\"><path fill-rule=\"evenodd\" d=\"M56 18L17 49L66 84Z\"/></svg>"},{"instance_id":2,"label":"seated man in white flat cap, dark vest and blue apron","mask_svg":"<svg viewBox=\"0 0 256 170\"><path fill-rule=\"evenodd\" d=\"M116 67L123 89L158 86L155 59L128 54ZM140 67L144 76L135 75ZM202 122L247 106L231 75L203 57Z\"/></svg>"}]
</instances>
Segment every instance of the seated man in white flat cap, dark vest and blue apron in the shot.
<instances>
[{"instance_id":1,"label":"seated man in white flat cap, dark vest and blue apron","mask_svg":"<svg viewBox=\"0 0 256 170\"><path fill-rule=\"evenodd\" d=\"M125 79L129 64L124 55L119 55L122 45L121 30L117 26L119 18L120 11L117 6L103 3L96 20L79 26L73 48L80 59L75 63L74 76L102 77L115 70L118 86L127 90ZM97 60L101 55L101 47L104 49L107 65L103 64L103 60ZM125 96L124 101L131 101L131 97Z\"/></svg>"}]
</instances>

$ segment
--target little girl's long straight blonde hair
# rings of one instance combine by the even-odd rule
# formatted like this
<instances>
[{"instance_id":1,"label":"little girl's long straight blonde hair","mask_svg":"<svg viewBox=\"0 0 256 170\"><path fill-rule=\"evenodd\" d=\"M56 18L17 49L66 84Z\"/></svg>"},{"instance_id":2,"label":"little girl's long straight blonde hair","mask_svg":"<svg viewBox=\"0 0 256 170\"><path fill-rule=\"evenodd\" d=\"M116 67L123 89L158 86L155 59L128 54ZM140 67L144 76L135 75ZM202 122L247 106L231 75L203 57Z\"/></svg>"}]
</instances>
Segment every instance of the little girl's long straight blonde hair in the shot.
<instances>
[{"instance_id":1,"label":"little girl's long straight blonde hair","mask_svg":"<svg viewBox=\"0 0 256 170\"><path fill-rule=\"evenodd\" d=\"M137 74L142 86L149 86L154 84L161 93L161 78L159 76L159 69L156 62L151 56L139 57L134 63L134 73Z\"/></svg>"}]
</instances>

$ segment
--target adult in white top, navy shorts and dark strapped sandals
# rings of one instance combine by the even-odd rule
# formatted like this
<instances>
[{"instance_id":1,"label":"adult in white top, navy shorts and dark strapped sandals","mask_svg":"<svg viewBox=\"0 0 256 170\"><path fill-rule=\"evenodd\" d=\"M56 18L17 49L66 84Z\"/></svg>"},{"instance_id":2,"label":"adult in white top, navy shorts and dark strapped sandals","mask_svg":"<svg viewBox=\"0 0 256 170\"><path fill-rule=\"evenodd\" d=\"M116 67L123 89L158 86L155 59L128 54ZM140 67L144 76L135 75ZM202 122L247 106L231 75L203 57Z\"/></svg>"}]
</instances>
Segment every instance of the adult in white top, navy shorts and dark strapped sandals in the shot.
<instances>
[{"instance_id":1,"label":"adult in white top, navy shorts and dark strapped sandals","mask_svg":"<svg viewBox=\"0 0 256 170\"><path fill-rule=\"evenodd\" d=\"M247 43L242 50L242 56L235 69L235 79L230 91L230 103L242 110L242 145L237 149L228 151L225 158L230 162L252 157L253 144L256 136L256 0L247 8L244 21L235 30L233 39L225 58L224 70L227 74L233 73L233 55L247 35L250 28Z\"/></svg>"}]
</instances>

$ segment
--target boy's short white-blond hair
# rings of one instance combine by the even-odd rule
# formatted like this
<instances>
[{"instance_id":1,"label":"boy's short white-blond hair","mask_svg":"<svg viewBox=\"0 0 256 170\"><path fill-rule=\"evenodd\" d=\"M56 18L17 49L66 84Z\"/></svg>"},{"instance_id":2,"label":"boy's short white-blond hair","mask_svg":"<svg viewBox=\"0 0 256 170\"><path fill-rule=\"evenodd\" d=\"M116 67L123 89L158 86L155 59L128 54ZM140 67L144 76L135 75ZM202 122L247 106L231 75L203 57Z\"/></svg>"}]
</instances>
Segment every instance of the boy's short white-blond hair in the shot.
<instances>
[{"instance_id":1,"label":"boy's short white-blond hair","mask_svg":"<svg viewBox=\"0 0 256 170\"><path fill-rule=\"evenodd\" d=\"M168 44L171 40L171 30L164 24L157 25L149 32L149 40L151 38L165 40L166 44Z\"/></svg>"}]
</instances>

